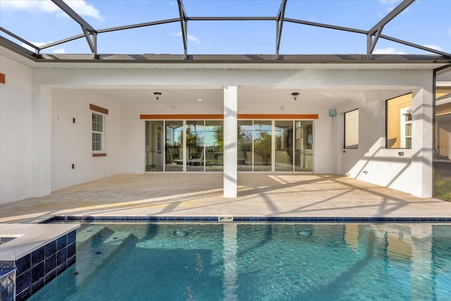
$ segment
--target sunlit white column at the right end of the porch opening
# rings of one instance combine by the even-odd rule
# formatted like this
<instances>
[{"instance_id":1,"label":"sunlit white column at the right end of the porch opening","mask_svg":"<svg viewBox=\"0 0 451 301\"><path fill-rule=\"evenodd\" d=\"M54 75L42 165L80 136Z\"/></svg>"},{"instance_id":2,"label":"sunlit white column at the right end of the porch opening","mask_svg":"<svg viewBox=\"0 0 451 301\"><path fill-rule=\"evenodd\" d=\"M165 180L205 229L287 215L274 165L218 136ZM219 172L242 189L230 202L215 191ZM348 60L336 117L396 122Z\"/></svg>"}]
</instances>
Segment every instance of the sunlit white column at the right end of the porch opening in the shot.
<instances>
[{"instance_id":1,"label":"sunlit white column at the right end of the porch opening","mask_svg":"<svg viewBox=\"0 0 451 301\"><path fill-rule=\"evenodd\" d=\"M432 197L433 94L430 86L414 91L412 99L412 195Z\"/></svg>"}]
</instances>

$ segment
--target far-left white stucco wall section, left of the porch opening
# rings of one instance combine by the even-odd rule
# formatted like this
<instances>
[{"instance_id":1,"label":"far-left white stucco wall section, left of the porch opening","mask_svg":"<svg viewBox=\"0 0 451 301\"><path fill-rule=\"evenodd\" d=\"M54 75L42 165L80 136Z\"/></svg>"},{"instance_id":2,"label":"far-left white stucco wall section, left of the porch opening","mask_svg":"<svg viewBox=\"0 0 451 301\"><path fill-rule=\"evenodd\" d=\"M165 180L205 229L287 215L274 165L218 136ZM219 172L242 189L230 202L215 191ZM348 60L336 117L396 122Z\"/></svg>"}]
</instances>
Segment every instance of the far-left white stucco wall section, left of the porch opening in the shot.
<instances>
[{"instance_id":1,"label":"far-left white stucco wall section, left of the porch opening","mask_svg":"<svg viewBox=\"0 0 451 301\"><path fill-rule=\"evenodd\" d=\"M33 70L0 56L0 204L33 196Z\"/></svg>"}]
</instances>

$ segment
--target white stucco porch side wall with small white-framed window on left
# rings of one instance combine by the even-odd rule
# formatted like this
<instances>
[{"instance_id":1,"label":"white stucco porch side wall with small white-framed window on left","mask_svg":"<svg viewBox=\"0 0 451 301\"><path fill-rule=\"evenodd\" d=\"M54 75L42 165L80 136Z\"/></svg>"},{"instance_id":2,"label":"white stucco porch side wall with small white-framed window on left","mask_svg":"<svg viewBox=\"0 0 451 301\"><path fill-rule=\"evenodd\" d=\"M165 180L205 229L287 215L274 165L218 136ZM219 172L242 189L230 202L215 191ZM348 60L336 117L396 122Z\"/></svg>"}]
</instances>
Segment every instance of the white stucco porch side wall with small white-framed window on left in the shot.
<instances>
[{"instance_id":1,"label":"white stucco porch side wall with small white-framed window on left","mask_svg":"<svg viewBox=\"0 0 451 301\"><path fill-rule=\"evenodd\" d=\"M121 111L118 104L86 90L75 89L54 90L51 98L51 190L120 173ZM92 156L89 104L109 110L104 115L106 156ZM73 169L72 164L75 165Z\"/></svg>"}]
</instances>

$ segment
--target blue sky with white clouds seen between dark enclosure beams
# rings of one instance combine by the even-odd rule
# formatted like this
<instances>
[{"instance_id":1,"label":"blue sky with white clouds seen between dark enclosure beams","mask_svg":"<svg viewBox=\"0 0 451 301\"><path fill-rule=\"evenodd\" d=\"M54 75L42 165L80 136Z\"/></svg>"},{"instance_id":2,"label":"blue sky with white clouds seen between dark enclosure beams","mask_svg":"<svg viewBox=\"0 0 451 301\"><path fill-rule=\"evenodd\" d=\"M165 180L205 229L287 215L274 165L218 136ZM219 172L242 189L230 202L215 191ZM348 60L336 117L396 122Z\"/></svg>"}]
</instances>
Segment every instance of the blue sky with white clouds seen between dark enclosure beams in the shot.
<instances>
[{"instance_id":1,"label":"blue sky with white clouds seen between dark enclosure beams","mask_svg":"<svg viewBox=\"0 0 451 301\"><path fill-rule=\"evenodd\" d=\"M400 0L288 0L285 18L369 30ZM96 30L178 18L175 0L66 0ZM184 0L188 17L274 17L280 0ZM451 0L416 0L383 35L451 53ZM36 46L80 35L78 23L49 0L0 0L0 26ZM274 54L276 22L187 23L188 54ZM0 34L22 44L4 32ZM23 45L24 46L24 45ZM180 22L100 33L99 54L183 54ZM89 54L85 38L42 53ZM280 54L365 54L366 35L284 22ZM431 54L379 39L374 54Z\"/></svg>"}]
</instances>

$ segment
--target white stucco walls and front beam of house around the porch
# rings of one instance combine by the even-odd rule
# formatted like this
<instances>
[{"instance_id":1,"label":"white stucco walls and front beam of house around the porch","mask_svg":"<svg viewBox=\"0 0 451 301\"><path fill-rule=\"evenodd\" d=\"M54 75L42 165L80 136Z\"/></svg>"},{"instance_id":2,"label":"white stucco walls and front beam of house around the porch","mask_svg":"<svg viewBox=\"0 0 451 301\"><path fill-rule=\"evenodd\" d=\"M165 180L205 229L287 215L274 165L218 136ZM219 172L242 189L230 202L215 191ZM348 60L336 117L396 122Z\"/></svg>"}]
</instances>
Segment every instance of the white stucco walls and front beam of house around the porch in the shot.
<instances>
[{"instance_id":1,"label":"white stucco walls and front beam of house around the porch","mask_svg":"<svg viewBox=\"0 0 451 301\"><path fill-rule=\"evenodd\" d=\"M318 113L319 119L314 121L316 173L349 173L353 178L411 192L411 151L404 149L404 156L398 156L397 149L385 149L385 99L424 86L428 91L432 80L431 70L31 70L4 57L1 72L6 74L6 85L1 85L1 202L45 195L115 173L144 172L144 121L140 114L223 113L222 102L137 105L95 94L96 89L149 86L207 87L220 91L219 95L223 87L236 86L238 114ZM353 94L333 107L327 99L310 106L299 99L285 109L277 102L266 106L240 102L240 93L246 92L242 89L259 87L340 87L366 92L358 97ZM93 158L90 151L89 103L109 109L106 157ZM342 152L342 114L357 108L359 149ZM338 109L338 116L329 117L329 109ZM416 126L428 133L427 125ZM71 164L75 164L74 169ZM417 166L416 170L424 173L423 178L428 176L428 168ZM420 190L416 193L426 191Z\"/></svg>"}]
</instances>

